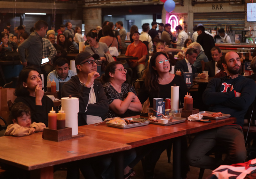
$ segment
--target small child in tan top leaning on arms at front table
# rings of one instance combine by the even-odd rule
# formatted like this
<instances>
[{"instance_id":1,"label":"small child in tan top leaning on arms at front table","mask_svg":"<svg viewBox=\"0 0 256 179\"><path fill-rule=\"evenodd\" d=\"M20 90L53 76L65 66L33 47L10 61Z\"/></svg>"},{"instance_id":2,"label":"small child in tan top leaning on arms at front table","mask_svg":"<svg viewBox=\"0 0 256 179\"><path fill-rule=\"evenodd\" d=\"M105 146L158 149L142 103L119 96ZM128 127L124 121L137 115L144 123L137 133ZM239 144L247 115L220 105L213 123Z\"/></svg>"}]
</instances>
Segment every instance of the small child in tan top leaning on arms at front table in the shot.
<instances>
[{"instance_id":1,"label":"small child in tan top leaning on arms at front table","mask_svg":"<svg viewBox=\"0 0 256 179\"><path fill-rule=\"evenodd\" d=\"M30 108L22 102L12 104L9 119L12 119L14 124L7 127L5 136L27 136L45 128L45 124L41 122L31 124Z\"/></svg>"}]
</instances>

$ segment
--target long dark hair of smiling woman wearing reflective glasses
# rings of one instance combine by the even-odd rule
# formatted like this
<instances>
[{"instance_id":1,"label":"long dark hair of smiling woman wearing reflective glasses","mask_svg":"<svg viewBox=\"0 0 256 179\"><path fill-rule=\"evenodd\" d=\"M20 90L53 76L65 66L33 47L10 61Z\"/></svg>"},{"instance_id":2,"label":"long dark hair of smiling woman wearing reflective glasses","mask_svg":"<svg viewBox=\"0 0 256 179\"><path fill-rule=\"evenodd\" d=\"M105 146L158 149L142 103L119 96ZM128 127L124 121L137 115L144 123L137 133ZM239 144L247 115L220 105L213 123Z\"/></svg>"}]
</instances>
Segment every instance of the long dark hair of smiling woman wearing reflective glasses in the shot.
<instances>
[{"instance_id":1,"label":"long dark hair of smiling woman wearing reflective glasses","mask_svg":"<svg viewBox=\"0 0 256 179\"><path fill-rule=\"evenodd\" d=\"M145 75L145 86L146 89L151 93L151 94L158 94L159 93L159 81L158 81L158 72L155 70L153 67L156 67L156 59L159 55L164 55L167 59L168 56L165 52L156 52L150 59L150 64L149 64L149 70L147 70L147 74ZM172 68L170 69L170 71ZM158 94L159 95L159 94Z\"/></svg>"}]
</instances>

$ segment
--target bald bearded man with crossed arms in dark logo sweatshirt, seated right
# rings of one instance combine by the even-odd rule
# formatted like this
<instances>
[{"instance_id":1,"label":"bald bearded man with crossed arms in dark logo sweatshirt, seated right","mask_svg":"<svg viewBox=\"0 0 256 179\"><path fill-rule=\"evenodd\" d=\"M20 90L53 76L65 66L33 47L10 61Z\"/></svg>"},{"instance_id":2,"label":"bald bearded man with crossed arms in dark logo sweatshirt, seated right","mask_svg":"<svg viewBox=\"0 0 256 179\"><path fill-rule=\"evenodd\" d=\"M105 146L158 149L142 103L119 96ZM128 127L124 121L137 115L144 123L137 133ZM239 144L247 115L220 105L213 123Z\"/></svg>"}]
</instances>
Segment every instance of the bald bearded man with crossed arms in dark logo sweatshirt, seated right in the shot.
<instances>
[{"instance_id":1,"label":"bald bearded man with crossed arms in dark logo sweatshirt, seated right","mask_svg":"<svg viewBox=\"0 0 256 179\"><path fill-rule=\"evenodd\" d=\"M230 114L236 122L198 134L188 148L187 157L191 166L214 170L219 165L243 163L247 158L241 127L244 115L255 99L256 83L239 75L241 61L236 52L228 52L223 58L222 65L227 76L213 78L208 83L203 92L203 102L211 105L208 111ZM216 145L226 149L224 161L205 155Z\"/></svg>"}]
</instances>

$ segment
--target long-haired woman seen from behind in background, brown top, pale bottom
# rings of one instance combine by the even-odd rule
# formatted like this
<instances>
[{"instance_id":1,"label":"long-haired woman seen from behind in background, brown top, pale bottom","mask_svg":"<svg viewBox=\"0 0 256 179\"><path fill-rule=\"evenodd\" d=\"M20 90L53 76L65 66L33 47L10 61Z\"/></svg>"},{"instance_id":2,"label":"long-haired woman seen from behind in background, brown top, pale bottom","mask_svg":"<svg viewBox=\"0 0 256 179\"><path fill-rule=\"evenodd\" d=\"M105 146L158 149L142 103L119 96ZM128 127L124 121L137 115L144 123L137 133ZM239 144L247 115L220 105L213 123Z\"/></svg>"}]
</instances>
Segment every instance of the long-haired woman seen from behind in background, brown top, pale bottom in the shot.
<instances>
[{"instance_id":1,"label":"long-haired woman seen from behind in background, brown top, pale bottom","mask_svg":"<svg viewBox=\"0 0 256 179\"><path fill-rule=\"evenodd\" d=\"M112 56L118 56L118 42L115 38L115 35L113 33L113 30L110 26L106 25L102 29L103 31L103 37L99 39L99 42L105 43L108 46L109 52Z\"/></svg>"}]
</instances>

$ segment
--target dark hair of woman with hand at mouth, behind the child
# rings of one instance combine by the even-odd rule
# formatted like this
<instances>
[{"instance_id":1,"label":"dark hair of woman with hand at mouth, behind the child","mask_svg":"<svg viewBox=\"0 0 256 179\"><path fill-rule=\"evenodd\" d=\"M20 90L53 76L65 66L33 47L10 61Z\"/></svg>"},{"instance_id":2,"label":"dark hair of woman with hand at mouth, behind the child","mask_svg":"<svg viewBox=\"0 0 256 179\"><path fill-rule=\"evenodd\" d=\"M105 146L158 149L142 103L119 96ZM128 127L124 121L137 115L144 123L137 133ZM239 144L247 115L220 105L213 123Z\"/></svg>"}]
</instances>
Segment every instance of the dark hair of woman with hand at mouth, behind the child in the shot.
<instances>
[{"instance_id":1,"label":"dark hair of woman with hand at mouth, behind the child","mask_svg":"<svg viewBox=\"0 0 256 179\"><path fill-rule=\"evenodd\" d=\"M34 67L25 67L20 72L20 75L19 75L19 78L18 78L18 81L17 81L17 85L16 85L16 88L15 88L15 92L14 92L14 95L16 97L25 97L25 96L28 96L30 94L29 91L27 90L27 88L23 87L23 82L28 81L29 74L30 74L31 71L38 72L38 70ZM38 74L40 74L40 73L38 72ZM40 75L40 78L42 80L41 75Z\"/></svg>"}]
</instances>

